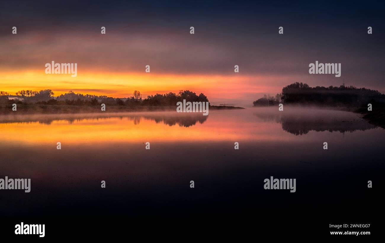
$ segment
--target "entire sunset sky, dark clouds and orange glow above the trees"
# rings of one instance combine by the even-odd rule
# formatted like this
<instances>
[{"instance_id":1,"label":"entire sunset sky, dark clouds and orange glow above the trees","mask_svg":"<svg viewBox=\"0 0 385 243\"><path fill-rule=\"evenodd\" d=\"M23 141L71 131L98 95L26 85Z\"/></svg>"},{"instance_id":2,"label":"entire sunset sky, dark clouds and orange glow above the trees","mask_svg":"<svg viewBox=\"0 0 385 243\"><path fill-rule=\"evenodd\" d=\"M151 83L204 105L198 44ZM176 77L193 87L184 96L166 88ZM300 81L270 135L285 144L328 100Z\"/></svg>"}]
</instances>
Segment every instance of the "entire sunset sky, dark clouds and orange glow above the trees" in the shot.
<instances>
[{"instance_id":1,"label":"entire sunset sky, dark clouds and orange glow above the trees","mask_svg":"<svg viewBox=\"0 0 385 243\"><path fill-rule=\"evenodd\" d=\"M2 2L0 90L191 90L240 106L293 82L385 93L384 10L380 1ZM52 61L77 63L77 77L45 74ZM309 74L316 61L341 63L341 77Z\"/></svg>"}]
</instances>

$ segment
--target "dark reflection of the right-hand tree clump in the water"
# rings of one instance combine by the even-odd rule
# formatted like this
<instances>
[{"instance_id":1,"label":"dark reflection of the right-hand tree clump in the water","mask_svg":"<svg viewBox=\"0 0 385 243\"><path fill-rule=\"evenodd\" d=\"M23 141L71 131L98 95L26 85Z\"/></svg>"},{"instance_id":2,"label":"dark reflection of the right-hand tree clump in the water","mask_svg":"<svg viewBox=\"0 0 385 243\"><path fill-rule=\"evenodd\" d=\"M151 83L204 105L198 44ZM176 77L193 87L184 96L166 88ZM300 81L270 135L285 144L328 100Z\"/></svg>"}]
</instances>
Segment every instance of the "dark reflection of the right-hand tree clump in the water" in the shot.
<instances>
[{"instance_id":1,"label":"dark reflection of the right-hand tree clump in the water","mask_svg":"<svg viewBox=\"0 0 385 243\"><path fill-rule=\"evenodd\" d=\"M295 135L304 135L309 131L365 131L376 128L358 114L333 110L310 110L286 108L285 112L254 112L263 121L275 121L282 124L282 129Z\"/></svg>"}]
</instances>

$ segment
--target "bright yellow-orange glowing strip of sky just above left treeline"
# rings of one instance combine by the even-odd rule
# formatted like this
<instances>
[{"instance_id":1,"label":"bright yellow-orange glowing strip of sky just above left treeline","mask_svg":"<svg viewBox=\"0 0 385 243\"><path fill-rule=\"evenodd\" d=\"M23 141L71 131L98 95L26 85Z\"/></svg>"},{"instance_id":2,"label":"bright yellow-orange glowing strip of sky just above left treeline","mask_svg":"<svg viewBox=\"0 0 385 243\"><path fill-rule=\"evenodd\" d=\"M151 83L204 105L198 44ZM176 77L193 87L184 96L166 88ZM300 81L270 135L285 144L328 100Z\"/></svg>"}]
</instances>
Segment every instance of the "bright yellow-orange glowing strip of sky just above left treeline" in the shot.
<instances>
[{"instance_id":1,"label":"bright yellow-orange glowing strip of sky just above left treeline","mask_svg":"<svg viewBox=\"0 0 385 243\"><path fill-rule=\"evenodd\" d=\"M130 97L139 90L143 98L156 93L191 90L204 93L209 99L239 98L245 92L266 92L265 85L248 80L261 77L241 75L178 75L156 73L106 73L79 72L77 77L70 74L45 74L41 70L0 71L0 90L15 94L19 90L51 89L55 96L67 93L107 95L115 98Z\"/></svg>"}]
</instances>

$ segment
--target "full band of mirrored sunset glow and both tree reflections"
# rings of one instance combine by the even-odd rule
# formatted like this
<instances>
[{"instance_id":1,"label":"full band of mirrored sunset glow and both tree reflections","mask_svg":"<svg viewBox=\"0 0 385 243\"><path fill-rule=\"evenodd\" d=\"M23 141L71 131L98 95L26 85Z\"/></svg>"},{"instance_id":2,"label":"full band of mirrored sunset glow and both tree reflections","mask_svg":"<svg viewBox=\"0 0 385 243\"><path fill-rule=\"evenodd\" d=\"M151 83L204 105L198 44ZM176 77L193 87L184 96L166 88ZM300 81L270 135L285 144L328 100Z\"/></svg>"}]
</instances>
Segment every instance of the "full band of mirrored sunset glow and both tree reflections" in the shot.
<instances>
[{"instance_id":1,"label":"full band of mirrored sunset glow and both tree reflections","mask_svg":"<svg viewBox=\"0 0 385 243\"><path fill-rule=\"evenodd\" d=\"M34 146L57 141L67 145L149 140L162 143L295 141L288 133L343 133L373 128L376 127L351 112L288 107L283 112L274 108L212 111L209 116L177 112L8 115L0 117L0 145ZM313 140L314 136L306 135L305 139Z\"/></svg>"}]
</instances>

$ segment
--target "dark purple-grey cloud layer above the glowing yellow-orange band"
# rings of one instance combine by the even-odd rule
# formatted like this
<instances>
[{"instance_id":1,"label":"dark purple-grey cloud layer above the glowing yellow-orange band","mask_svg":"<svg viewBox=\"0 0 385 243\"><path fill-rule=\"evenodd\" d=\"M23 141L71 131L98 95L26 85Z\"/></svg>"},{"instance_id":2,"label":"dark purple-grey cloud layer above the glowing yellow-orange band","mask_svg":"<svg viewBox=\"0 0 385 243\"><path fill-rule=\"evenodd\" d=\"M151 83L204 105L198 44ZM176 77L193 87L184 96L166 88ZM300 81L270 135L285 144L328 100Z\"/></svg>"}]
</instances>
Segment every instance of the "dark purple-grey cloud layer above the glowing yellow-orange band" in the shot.
<instances>
[{"instance_id":1,"label":"dark purple-grey cloud layer above the glowing yellow-orange band","mask_svg":"<svg viewBox=\"0 0 385 243\"><path fill-rule=\"evenodd\" d=\"M246 75L307 75L318 60L341 63L341 78L352 83L378 87L384 9L370 1L7 2L0 10L0 67L40 68L55 60L111 72L142 72L149 64L152 72L226 75L239 65Z\"/></svg>"}]
</instances>

